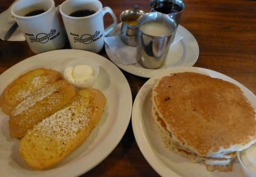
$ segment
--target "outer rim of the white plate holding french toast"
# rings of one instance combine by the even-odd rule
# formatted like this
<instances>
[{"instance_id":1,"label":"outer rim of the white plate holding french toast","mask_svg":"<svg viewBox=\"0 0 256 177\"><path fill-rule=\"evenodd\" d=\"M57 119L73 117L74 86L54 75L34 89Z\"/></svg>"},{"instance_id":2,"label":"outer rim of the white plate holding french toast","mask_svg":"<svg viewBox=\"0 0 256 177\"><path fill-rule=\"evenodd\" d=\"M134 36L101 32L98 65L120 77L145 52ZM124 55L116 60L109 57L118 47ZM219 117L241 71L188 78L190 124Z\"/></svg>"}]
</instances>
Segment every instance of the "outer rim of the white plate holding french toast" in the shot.
<instances>
[{"instance_id":1,"label":"outer rim of the white plate holding french toast","mask_svg":"<svg viewBox=\"0 0 256 177\"><path fill-rule=\"evenodd\" d=\"M64 54L63 54L64 53ZM102 162L104 159L106 159L106 157L108 157L108 155L115 149L115 147L119 144L119 142L121 141L122 137L124 136L124 133L126 132L126 129L130 123L130 118L131 118L131 114L132 114L132 92L131 92L131 89L130 89L130 85L126 79L126 77L124 76L124 74L121 72L121 70L116 66L114 65L111 61L109 61L108 59L106 59L105 57L101 56L101 55L98 55L96 53L93 53L93 52L88 52L88 51L83 51L83 50L74 50L74 49L63 49L63 50L53 50L53 51L49 51L49 52L44 52L44 53L40 53L40 54L37 54L37 55L33 55L31 57L28 57L22 61L20 61L19 63L11 66L10 68L8 68L5 72L3 72L1 75L0 75L0 81L3 80L6 76L8 76L8 74L11 74L12 70L16 69L17 67L19 67L20 65L22 65L23 63L28 63L29 61L33 60L33 59L37 59L37 58L40 58L42 59L42 57L44 56L52 56L52 55L58 55L58 58L61 58L63 57L63 61L65 60L65 58L67 57L82 57L82 55L85 54L85 56L89 55L89 56L95 56L96 57L96 63L98 63L100 61L101 65L103 66L103 64L107 65L106 67L111 67L112 69L115 70L115 72L117 72L118 74L114 75L112 74L113 76L116 76L118 77L119 79L121 79L122 81L122 85L116 85L116 87L118 88L118 91L121 93L123 91L126 92L125 96L122 96L122 95L119 95L119 102L121 101L121 98L122 97L125 97L125 102L126 102L126 107L122 108L124 110L124 112L122 112L122 119L119 119L118 116L121 116L121 111L120 109L118 111L115 111L114 108L111 108L110 111L114 111L114 112L117 112L117 116L115 118L115 123L111 124L111 129L108 129L108 135L106 137L103 138L103 140L98 143L97 146L95 146L95 149L99 149L100 147L105 147L104 148L104 151L100 151L100 155L96 155L96 157L94 157L95 160L92 160L93 163L92 164L89 164L89 166L87 167L87 164L83 164L83 161L84 159L87 157L87 155L85 155L85 157L82 157L82 158L78 158L76 157L75 160L71 160L71 162L67 162L66 164L63 164L61 166L59 166L58 168L49 168L49 169L46 169L46 170L42 170L42 173L40 173L38 176L41 176L41 175L47 175L48 173L49 174L62 174L62 176L79 176L79 175L82 175L83 173L86 173L87 171L91 170L92 168L94 168L96 165L98 165L100 162ZM62 55L62 56L61 56ZM46 61L48 59L45 59ZM60 61L61 62L61 61ZM36 62L35 62L36 63ZM106 64L107 63L107 64ZM36 63L37 64L37 63ZM35 64L35 65L36 65ZM99 63L98 63L99 64ZM63 64L59 64L59 65L63 65ZM27 66L27 70L31 70L33 67L35 67L33 64ZM50 66L48 68L52 68L53 66ZM29 69L31 68L31 69ZM37 68L37 67L35 67ZM63 68L64 69L64 68ZM106 68L104 68L106 69ZM61 71L60 71L61 72ZM111 70L112 72L112 70ZM17 73L17 71L16 71ZM22 72L18 72L20 74L22 74ZM17 75L17 76L20 76ZM15 75L15 74L14 74ZM17 76L15 76L15 78L17 78ZM13 76L14 77L14 76ZM3 80L4 81L4 80ZM13 79L10 79L9 82L13 81ZM4 82L6 83L6 81ZM5 85L7 86L9 83L6 83ZM2 91L6 88L6 86L2 86ZM0 92L2 93L2 91L0 90ZM104 92L104 91L103 91ZM113 92L113 91L112 91ZM108 103L108 102L107 102ZM107 105L106 103L106 106L109 106ZM121 108L121 107L120 107ZM105 108L106 109L106 108ZM109 107L107 107L108 111L109 111ZM4 113L3 113L4 114ZM106 115L106 118L108 117L108 115ZM116 135L116 130L118 130L119 132L119 135ZM112 135L112 136L111 136ZM115 136L113 136L115 135ZM110 137L111 136L111 137ZM107 144L109 144L108 140L111 139L112 140L112 144L111 145L108 145L106 146ZM16 140L16 139L15 139ZM15 141L14 140L14 141ZM103 146L104 145L104 146ZM79 148L79 147L78 147ZM95 149L91 150L90 153L88 153L88 155L93 155L93 153L95 153ZM64 158L65 159L65 158ZM70 168L67 168L68 166L72 166L72 167L76 167L75 170L70 170ZM21 167L22 168L22 167ZM15 168L16 169L16 168ZM65 170L66 169L66 170ZM27 170L27 169L24 169L24 170ZM1 170L2 171L2 170ZM19 170L16 170L17 172L19 172ZM46 173L45 173L46 172ZM57 173L56 173L57 172ZM1 173L4 173L4 170L1 172ZM29 175L35 175L33 173L29 174ZM28 175L28 176L29 176Z\"/></svg>"}]
</instances>

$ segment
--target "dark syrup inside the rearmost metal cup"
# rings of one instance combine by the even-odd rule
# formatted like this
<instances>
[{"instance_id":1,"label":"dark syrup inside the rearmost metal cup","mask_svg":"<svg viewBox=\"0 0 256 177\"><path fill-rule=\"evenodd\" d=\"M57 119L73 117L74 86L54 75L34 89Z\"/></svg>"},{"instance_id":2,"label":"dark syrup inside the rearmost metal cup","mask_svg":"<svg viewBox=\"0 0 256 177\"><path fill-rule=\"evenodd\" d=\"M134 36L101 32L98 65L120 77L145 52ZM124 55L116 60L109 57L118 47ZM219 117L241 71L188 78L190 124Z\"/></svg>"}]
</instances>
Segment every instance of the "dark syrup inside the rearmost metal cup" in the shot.
<instances>
[{"instance_id":1,"label":"dark syrup inside the rearmost metal cup","mask_svg":"<svg viewBox=\"0 0 256 177\"><path fill-rule=\"evenodd\" d=\"M182 8L175 4L174 2L156 2L152 5L152 9L155 11L171 14L171 13L178 13L182 10Z\"/></svg>"}]
</instances>

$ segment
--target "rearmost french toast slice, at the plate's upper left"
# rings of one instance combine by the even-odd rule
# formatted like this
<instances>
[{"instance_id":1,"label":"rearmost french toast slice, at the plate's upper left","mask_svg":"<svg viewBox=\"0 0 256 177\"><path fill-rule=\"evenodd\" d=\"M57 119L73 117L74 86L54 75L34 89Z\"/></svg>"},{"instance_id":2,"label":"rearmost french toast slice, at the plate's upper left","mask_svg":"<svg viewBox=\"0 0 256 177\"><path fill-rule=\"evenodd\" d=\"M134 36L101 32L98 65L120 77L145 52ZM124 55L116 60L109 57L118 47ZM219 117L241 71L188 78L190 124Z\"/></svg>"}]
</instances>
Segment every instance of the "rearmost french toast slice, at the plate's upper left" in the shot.
<instances>
[{"instance_id":1,"label":"rearmost french toast slice, at the plate's upper left","mask_svg":"<svg viewBox=\"0 0 256 177\"><path fill-rule=\"evenodd\" d=\"M27 96L41 89L46 84L60 79L63 79L61 73L55 70L46 68L30 70L6 87L0 97L0 107L2 107L4 113L9 115L11 110Z\"/></svg>"}]
</instances>

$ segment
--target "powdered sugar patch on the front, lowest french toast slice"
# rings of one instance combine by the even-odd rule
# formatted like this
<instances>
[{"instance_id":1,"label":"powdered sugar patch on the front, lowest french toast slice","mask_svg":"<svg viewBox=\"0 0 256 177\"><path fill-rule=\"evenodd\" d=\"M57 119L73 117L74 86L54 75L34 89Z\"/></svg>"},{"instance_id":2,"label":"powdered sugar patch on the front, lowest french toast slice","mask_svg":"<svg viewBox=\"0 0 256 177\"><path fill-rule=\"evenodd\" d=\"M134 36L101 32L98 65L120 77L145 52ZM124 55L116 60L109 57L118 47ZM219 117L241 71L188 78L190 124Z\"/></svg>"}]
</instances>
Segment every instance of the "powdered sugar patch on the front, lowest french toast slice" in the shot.
<instances>
[{"instance_id":1,"label":"powdered sugar patch on the front, lowest french toast slice","mask_svg":"<svg viewBox=\"0 0 256 177\"><path fill-rule=\"evenodd\" d=\"M82 99L74 101L37 124L34 127L36 134L53 137L62 142L74 138L76 133L88 124L93 109L91 106L81 107L81 101Z\"/></svg>"}]
</instances>

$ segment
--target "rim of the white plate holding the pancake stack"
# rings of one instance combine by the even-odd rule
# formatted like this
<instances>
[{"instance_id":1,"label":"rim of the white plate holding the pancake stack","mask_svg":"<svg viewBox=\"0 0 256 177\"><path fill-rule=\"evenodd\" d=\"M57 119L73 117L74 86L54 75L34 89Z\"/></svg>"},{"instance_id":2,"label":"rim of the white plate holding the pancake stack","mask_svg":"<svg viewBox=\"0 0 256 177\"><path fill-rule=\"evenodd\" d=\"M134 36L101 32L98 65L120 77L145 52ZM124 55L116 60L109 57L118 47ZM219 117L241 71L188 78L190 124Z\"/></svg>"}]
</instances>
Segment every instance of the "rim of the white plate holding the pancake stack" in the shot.
<instances>
[{"instance_id":1,"label":"rim of the white plate holding the pancake stack","mask_svg":"<svg viewBox=\"0 0 256 177\"><path fill-rule=\"evenodd\" d=\"M181 71L178 71L181 70ZM204 74L204 75L215 75L215 78L220 78L223 79L225 81L229 81L231 83L234 83L235 85L237 85L244 93L246 92L245 96L247 97L247 99L250 101L250 103L252 104L252 107L254 107L254 109L256 109L256 96L249 90L247 89L245 86L243 86L241 83L239 83L238 81L236 81L235 79L232 79L229 76L226 76L220 72L214 71L214 70L210 70L207 68L200 68L200 67L191 67L191 66L185 66L185 67L176 67L176 68L169 68L168 70L165 70L163 72L160 72L159 74L157 74L154 77L151 77L150 79L148 79L147 82L144 83L144 85L141 87L141 89L139 90L138 94L136 95L135 99L134 99L134 104L132 107L132 129L134 132L134 137L135 140L137 142L137 145L141 151L141 153L143 154L143 156L145 157L145 159L147 160L147 162L150 164L150 166L161 176L165 177L165 176L173 176L173 177L181 177L180 174L176 173L175 171L173 171L171 168L169 168L163 161L161 161L161 159L158 157L156 150L154 149L154 147L150 146L150 140L147 138L147 132L145 131L145 128L143 129L143 117L140 116L138 118L139 113L141 113L138 108L139 108L139 103L142 103L142 101L145 100L145 97L143 98L142 96L146 95L146 87L148 85L152 85L154 83L154 79L160 79L163 76L167 76L168 74L171 73L175 73L175 72L196 72L196 73L200 73L200 74ZM213 77L213 76L211 76ZM148 90L149 92L150 90ZM144 92L144 94L143 94ZM252 98L248 98L248 95L252 96ZM254 101L254 102L251 102ZM143 136L143 137L142 137ZM149 152L146 152L146 149L149 149ZM153 154L153 156L150 157L150 153ZM192 162L191 162L192 163Z\"/></svg>"}]
</instances>

